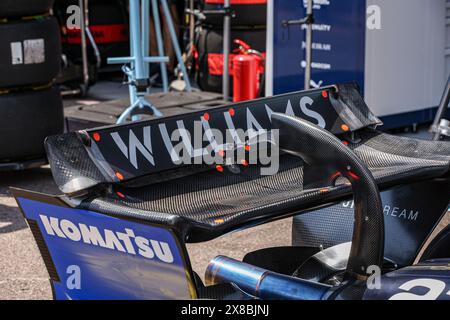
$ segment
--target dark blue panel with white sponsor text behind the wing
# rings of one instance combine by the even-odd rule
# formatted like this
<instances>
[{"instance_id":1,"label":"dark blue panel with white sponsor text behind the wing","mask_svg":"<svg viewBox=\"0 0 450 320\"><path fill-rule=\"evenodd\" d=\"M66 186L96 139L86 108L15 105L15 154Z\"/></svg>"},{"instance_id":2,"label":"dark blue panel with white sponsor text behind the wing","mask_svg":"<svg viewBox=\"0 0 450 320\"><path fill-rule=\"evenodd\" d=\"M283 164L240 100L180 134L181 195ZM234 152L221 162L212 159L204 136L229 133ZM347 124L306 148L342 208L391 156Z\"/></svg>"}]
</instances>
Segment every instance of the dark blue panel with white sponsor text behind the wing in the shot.
<instances>
[{"instance_id":1,"label":"dark blue panel with white sponsor text behind the wing","mask_svg":"<svg viewBox=\"0 0 450 320\"><path fill-rule=\"evenodd\" d=\"M304 88L305 28L283 27L306 15L303 0L274 1L273 94ZM312 86L356 81L364 88L365 0L315 0Z\"/></svg>"}]
</instances>

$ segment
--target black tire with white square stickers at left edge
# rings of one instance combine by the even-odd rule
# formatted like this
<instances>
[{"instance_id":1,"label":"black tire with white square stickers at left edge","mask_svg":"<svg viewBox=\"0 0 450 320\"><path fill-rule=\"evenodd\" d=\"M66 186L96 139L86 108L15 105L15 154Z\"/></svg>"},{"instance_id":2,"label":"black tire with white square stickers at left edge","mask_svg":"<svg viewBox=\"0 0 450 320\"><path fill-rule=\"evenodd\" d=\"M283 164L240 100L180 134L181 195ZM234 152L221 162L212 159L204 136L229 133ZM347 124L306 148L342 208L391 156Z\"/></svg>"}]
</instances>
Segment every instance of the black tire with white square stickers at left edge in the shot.
<instances>
[{"instance_id":1,"label":"black tire with white square stickers at left edge","mask_svg":"<svg viewBox=\"0 0 450 320\"><path fill-rule=\"evenodd\" d=\"M0 24L0 88L51 82L61 68L61 43L54 17Z\"/></svg>"}]
</instances>

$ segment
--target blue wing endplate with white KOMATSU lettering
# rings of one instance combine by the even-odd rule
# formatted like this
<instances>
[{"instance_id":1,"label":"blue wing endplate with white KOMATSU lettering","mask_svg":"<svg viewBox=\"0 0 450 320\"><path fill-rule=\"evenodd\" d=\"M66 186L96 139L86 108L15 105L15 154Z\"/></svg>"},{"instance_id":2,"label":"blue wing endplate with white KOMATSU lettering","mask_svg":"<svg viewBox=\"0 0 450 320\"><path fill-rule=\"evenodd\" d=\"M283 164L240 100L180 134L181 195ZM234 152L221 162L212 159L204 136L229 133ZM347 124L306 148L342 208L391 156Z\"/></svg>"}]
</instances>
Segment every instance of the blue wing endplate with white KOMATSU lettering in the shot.
<instances>
[{"instance_id":1,"label":"blue wing endplate with white KOMATSU lettering","mask_svg":"<svg viewBox=\"0 0 450 320\"><path fill-rule=\"evenodd\" d=\"M24 198L18 202L26 218L37 223L50 252L59 277L52 280L56 299L195 295L171 231Z\"/></svg>"}]
</instances>

